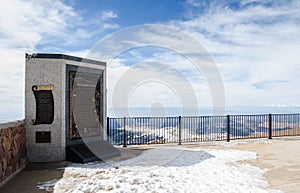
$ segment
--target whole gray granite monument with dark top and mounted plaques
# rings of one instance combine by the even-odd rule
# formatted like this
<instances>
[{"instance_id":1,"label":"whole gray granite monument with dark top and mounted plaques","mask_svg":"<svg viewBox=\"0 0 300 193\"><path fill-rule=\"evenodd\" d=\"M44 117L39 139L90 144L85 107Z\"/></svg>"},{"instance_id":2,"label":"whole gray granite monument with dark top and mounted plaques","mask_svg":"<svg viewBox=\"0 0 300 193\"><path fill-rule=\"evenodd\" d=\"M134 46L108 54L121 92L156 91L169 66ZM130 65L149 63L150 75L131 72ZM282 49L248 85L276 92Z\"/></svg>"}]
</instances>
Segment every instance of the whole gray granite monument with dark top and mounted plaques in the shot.
<instances>
[{"instance_id":1,"label":"whole gray granite monument with dark top and mounted plaques","mask_svg":"<svg viewBox=\"0 0 300 193\"><path fill-rule=\"evenodd\" d=\"M105 62L26 54L25 82L29 162L93 161L99 146L100 154L118 154L106 143Z\"/></svg>"}]
</instances>

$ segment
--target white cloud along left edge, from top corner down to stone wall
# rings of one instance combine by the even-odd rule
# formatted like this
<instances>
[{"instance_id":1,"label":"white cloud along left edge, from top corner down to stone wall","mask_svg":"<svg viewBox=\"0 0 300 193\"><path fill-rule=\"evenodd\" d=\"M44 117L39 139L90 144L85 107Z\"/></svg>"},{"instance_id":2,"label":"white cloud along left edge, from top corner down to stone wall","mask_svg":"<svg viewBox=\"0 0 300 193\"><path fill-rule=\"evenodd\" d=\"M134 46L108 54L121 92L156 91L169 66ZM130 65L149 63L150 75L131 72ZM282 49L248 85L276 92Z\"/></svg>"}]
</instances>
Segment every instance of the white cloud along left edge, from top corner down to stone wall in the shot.
<instances>
[{"instance_id":1,"label":"white cloud along left edge, from top corner down to stone wall","mask_svg":"<svg viewBox=\"0 0 300 193\"><path fill-rule=\"evenodd\" d=\"M22 118L24 111L25 52L33 52L46 36L65 36L68 20L78 18L59 1L5 1L0 12L0 119ZM12 108L6 108L7 105ZM15 112L15 113L12 113ZM5 118L6 119L6 118Z\"/></svg>"}]
</instances>

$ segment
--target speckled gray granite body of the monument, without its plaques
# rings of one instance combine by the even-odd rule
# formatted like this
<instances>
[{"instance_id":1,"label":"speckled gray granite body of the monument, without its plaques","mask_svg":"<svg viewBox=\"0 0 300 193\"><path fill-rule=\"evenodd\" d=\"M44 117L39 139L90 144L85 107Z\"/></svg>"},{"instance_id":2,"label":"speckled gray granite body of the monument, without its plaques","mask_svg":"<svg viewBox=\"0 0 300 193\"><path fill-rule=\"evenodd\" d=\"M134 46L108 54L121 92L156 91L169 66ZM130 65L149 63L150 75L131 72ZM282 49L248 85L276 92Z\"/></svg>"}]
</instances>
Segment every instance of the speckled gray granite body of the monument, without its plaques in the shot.
<instances>
[{"instance_id":1,"label":"speckled gray granite body of the monument, without its plaques","mask_svg":"<svg viewBox=\"0 0 300 193\"><path fill-rule=\"evenodd\" d=\"M106 120L106 64L61 54L26 55L25 74L25 123L27 159L29 162L55 162L65 160L66 126L66 73L67 65L87 67L91 70L104 70L103 120ZM54 120L52 124L32 125L36 116L36 101L32 92L33 85L54 85ZM103 123L105 125L105 121ZM36 131L51 131L51 143L36 143Z\"/></svg>"}]
</instances>

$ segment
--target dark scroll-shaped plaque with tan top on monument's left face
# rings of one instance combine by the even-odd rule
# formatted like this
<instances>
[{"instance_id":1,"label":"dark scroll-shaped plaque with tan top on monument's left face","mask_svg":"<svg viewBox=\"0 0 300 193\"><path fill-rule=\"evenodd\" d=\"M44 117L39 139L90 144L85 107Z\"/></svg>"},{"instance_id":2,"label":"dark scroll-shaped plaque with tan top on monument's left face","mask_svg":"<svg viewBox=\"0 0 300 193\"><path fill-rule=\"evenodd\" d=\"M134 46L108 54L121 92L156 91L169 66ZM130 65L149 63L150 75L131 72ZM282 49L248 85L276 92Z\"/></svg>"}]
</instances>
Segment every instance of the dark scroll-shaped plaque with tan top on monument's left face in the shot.
<instances>
[{"instance_id":1,"label":"dark scroll-shaped plaque with tan top on monument's left face","mask_svg":"<svg viewBox=\"0 0 300 193\"><path fill-rule=\"evenodd\" d=\"M53 85L32 86L32 92L36 102L36 117L31 121L32 125L52 124L54 119Z\"/></svg>"}]
</instances>

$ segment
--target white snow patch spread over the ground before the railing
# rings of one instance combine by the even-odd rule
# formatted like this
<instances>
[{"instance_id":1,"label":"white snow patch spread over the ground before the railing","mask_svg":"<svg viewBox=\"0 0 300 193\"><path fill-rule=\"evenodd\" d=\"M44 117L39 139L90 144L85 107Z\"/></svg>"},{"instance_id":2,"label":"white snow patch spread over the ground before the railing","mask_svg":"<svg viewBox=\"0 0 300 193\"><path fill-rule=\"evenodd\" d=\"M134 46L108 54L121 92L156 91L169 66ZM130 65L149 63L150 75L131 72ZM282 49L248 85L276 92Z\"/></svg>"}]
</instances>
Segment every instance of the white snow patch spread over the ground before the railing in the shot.
<instances>
[{"instance_id":1,"label":"white snow patch spread over the ground before the railing","mask_svg":"<svg viewBox=\"0 0 300 193\"><path fill-rule=\"evenodd\" d=\"M242 160L254 152L155 148L114 163L73 164L40 189L61 192L280 192L268 189L264 170Z\"/></svg>"}]
</instances>

